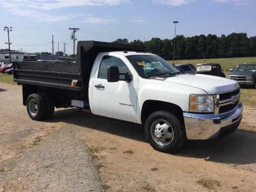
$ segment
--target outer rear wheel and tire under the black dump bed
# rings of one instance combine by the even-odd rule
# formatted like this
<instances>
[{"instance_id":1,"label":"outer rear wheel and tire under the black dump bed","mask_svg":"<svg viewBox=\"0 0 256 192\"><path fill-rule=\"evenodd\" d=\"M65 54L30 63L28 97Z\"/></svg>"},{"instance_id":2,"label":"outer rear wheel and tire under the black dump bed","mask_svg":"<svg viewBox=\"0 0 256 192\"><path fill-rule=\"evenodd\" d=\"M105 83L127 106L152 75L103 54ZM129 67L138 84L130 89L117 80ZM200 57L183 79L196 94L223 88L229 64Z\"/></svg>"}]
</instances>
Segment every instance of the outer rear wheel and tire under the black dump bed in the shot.
<instances>
[{"instance_id":1,"label":"outer rear wheel and tire under the black dump bed","mask_svg":"<svg viewBox=\"0 0 256 192\"><path fill-rule=\"evenodd\" d=\"M27 97L27 113L33 120L44 119L47 112L45 99L41 95L33 93Z\"/></svg>"}]
</instances>

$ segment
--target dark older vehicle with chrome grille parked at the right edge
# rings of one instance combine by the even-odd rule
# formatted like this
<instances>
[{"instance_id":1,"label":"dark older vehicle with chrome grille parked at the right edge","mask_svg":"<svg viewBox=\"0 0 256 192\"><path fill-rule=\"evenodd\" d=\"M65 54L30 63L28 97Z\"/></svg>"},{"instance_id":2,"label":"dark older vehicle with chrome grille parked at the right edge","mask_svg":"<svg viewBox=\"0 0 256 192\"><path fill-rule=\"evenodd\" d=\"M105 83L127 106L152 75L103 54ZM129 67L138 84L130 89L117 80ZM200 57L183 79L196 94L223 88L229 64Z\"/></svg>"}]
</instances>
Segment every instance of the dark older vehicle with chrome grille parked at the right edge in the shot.
<instances>
[{"instance_id":1,"label":"dark older vehicle with chrome grille parked at the right edge","mask_svg":"<svg viewBox=\"0 0 256 192\"><path fill-rule=\"evenodd\" d=\"M256 88L256 63L240 63L226 78L236 80L240 86L251 86Z\"/></svg>"}]
</instances>

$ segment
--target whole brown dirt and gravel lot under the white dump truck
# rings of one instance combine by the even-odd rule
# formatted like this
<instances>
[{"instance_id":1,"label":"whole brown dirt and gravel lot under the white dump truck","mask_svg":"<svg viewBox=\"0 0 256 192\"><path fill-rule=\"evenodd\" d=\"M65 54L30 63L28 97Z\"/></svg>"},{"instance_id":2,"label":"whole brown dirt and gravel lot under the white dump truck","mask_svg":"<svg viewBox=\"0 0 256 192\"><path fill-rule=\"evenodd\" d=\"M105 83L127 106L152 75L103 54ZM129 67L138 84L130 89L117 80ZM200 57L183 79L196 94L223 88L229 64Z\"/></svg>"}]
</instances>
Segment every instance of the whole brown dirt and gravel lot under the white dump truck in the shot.
<instances>
[{"instance_id":1,"label":"whole brown dirt and gravel lot under the white dump truck","mask_svg":"<svg viewBox=\"0 0 256 192\"><path fill-rule=\"evenodd\" d=\"M33 121L21 92L0 83L0 192L256 192L255 108L235 133L165 154L141 126L75 108Z\"/></svg>"}]
</instances>

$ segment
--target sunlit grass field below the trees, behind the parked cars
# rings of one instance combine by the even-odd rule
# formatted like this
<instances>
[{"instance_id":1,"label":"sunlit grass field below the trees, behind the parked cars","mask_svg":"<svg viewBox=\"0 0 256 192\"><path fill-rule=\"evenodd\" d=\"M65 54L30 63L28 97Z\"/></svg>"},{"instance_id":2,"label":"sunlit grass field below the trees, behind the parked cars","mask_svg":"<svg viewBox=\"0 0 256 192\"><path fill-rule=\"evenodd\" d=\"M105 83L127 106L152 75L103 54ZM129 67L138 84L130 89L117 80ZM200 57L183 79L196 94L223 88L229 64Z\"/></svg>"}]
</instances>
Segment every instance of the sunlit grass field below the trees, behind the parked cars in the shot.
<instances>
[{"instance_id":1,"label":"sunlit grass field below the trees, behind the parked cars","mask_svg":"<svg viewBox=\"0 0 256 192\"><path fill-rule=\"evenodd\" d=\"M175 64L191 63L194 66L198 63L203 63L202 60L175 60ZM173 61L168 61L173 63ZM207 63L219 63L222 66L222 71L226 69L226 73L229 73L229 69L234 69L237 63L256 63L256 57L242 57L242 58L225 58L225 59L207 59Z\"/></svg>"}]
</instances>

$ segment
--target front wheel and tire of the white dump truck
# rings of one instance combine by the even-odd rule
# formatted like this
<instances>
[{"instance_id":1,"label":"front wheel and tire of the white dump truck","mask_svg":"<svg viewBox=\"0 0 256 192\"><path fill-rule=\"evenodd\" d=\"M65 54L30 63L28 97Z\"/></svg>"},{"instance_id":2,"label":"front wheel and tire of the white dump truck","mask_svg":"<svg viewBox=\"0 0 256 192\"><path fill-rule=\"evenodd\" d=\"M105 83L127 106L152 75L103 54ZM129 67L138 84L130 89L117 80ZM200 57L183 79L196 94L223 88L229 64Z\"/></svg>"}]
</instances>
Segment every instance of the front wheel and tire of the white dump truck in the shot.
<instances>
[{"instance_id":1,"label":"front wheel and tire of the white dump truck","mask_svg":"<svg viewBox=\"0 0 256 192\"><path fill-rule=\"evenodd\" d=\"M167 153L180 149L186 139L183 123L166 111L149 115L145 123L145 135L155 150Z\"/></svg>"}]
</instances>

